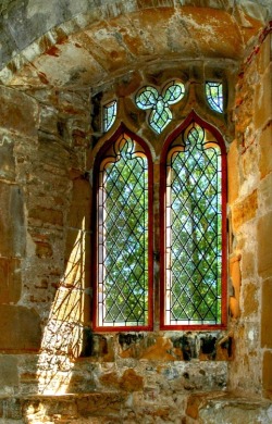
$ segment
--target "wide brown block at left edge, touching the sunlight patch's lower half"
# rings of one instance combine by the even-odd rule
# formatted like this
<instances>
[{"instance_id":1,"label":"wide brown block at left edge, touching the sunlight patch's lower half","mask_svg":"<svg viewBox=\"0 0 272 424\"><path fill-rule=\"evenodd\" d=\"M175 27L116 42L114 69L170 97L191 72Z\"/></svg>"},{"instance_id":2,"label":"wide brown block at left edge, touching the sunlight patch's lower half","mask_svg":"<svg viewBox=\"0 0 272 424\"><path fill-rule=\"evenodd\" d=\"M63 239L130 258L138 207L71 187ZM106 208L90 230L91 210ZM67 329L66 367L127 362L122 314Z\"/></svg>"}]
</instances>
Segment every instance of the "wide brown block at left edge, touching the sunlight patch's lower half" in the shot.
<instances>
[{"instance_id":1,"label":"wide brown block at left edge, touching the sunlight patch's lower half","mask_svg":"<svg viewBox=\"0 0 272 424\"><path fill-rule=\"evenodd\" d=\"M41 342L40 320L33 309L0 305L0 350L38 350Z\"/></svg>"}]
</instances>

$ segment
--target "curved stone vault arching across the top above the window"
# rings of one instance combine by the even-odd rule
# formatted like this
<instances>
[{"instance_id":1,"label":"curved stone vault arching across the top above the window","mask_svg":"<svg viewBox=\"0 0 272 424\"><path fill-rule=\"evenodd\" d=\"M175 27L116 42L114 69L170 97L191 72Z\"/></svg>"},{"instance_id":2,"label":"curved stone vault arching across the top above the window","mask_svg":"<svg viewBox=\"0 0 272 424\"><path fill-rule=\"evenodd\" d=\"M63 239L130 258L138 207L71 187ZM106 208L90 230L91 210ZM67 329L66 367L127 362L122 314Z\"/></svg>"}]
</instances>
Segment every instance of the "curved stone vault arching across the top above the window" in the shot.
<instances>
[{"instance_id":1,"label":"curved stone vault arching across the top above the window","mask_svg":"<svg viewBox=\"0 0 272 424\"><path fill-rule=\"evenodd\" d=\"M158 61L242 60L270 0L3 1L0 82L92 86Z\"/></svg>"}]
</instances>

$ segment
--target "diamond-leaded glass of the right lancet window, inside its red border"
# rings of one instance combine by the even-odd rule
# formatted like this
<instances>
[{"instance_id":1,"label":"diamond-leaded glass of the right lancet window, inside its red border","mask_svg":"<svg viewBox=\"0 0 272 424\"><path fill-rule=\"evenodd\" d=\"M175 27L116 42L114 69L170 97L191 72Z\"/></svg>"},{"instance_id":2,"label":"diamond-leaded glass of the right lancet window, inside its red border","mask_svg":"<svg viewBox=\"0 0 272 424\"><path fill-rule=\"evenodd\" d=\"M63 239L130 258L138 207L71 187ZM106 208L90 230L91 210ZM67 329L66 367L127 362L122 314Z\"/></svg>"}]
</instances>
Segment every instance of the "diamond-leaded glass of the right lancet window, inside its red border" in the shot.
<instances>
[{"instance_id":1,"label":"diamond-leaded glass of the right lancet window, inside its red border","mask_svg":"<svg viewBox=\"0 0 272 424\"><path fill-rule=\"evenodd\" d=\"M166 325L221 322L221 151L194 124L168 158Z\"/></svg>"}]
</instances>

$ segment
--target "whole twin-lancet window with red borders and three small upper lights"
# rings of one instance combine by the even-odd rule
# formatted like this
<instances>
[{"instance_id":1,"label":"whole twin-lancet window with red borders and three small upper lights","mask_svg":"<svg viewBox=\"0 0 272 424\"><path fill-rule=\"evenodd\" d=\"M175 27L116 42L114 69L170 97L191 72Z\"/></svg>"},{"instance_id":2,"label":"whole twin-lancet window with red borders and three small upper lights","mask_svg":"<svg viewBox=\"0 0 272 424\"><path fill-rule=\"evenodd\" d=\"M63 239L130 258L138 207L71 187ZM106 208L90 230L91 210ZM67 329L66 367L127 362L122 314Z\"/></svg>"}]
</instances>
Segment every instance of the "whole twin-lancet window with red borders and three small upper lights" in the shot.
<instances>
[{"instance_id":1,"label":"whole twin-lancet window with red borders and three small upper lights","mask_svg":"<svg viewBox=\"0 0 272 424\"><path fill-rule=\"evenodd\" d=\"M136 92L146 140L124 124L114 133L118 101L103 107L113 135L94 166L96 331L226 325L226 149L196 112L178 125L184 96L177 79ZM222 84L206 84L203 96L223 112Z\"/></svg>"}]
</instances>

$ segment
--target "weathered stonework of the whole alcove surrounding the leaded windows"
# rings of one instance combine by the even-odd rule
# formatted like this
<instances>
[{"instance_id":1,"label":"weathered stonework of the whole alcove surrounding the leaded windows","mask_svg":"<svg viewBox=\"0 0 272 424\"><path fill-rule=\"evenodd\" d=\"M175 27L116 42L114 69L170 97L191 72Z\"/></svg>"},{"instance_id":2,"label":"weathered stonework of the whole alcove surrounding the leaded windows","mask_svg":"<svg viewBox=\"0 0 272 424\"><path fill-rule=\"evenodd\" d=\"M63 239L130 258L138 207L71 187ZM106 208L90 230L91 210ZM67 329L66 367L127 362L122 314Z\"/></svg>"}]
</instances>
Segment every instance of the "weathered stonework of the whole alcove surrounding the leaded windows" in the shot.
<instances>
[{"instance_id":1,"label":"weathered stonework of the whole alcove surrounding the leaded windows","mask_svg":"<svg viewBox=\"0 0 272 424\"><path fill-rule=\"evenodd\" d=\"M51 420L67 411L71 420L132 423L269 420L270 1L28 0L0 8L2 417L33 414L38 422L44 408ZM226 329L92 332L96 154L123 122L149 146L159 186L166 133L153 132L135 96L145 85L160 93L171 78L184 83L185 96L171 105L165 132L194 110L227 149ZM207 102L206 80L223 82L222 114ZM113 99L116 122L104 133L102 108ZM157 197L157 222L159 215ZM158 240L154 234L157 303Z\"/></svg>"}]
</instances>

